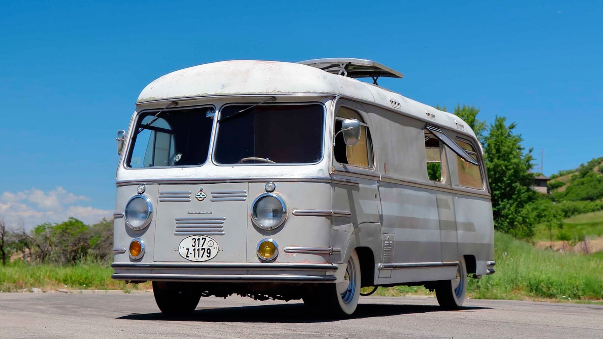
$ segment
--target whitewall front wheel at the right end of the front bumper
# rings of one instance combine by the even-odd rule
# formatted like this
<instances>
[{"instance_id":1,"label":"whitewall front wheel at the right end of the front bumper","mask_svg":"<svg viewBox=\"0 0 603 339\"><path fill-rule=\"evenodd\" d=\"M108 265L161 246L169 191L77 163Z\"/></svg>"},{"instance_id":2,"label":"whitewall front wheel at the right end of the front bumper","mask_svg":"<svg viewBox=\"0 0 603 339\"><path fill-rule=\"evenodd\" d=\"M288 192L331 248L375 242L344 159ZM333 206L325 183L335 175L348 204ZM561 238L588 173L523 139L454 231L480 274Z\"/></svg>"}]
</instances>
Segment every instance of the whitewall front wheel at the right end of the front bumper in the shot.
<instances>
[{"instance_id":1,"label":"whitewall front wheel at the right end of the front bumper","mask_svg":"<svg viewBox=\"0 0 603 339\"><path fill-rule=\"evenodd\" d=\"M352 315L360 298L360 261L356 250L350 253L343 282L320 284L303 298L306 305L318 308L331 317Z\"/></svg>"}]
</instances>

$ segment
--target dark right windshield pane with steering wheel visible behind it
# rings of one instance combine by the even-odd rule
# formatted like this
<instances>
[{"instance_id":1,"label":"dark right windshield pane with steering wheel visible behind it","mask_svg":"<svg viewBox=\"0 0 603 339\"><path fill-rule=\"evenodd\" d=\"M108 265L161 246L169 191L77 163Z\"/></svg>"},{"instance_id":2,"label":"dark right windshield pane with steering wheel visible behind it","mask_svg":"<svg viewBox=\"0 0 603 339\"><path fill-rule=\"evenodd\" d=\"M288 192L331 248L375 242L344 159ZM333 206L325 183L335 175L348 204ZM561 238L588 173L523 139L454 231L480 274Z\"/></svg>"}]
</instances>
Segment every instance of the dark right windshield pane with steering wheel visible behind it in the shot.
<instances>
[{"instance_id":1,"label":"dark right windshield pane with steering wheel visible behind it","mask_svg":"<svg viewBox=\"0 0 603 339\"><path fill-rule=\"evenodd\" d=\"M321 104L250 106L230 105L222 109L214 154L217 163L320 161L324 128ZM238 114L244 109L247 110ZM230 116L233 117L225 119Z\"/></svg>"}]
</instances>

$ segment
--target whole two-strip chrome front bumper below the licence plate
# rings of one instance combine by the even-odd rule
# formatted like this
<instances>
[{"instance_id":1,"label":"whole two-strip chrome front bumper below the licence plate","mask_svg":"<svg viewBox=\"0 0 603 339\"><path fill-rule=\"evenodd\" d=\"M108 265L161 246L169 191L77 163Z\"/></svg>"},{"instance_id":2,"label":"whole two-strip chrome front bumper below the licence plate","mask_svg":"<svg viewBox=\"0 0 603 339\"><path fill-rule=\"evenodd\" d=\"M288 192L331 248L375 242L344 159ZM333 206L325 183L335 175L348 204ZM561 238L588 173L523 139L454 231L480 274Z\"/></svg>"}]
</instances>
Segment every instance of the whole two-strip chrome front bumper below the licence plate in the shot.
<instances>
[{"instance_id":1,"label":"whole two-strip chrome front bumper below the licence plate","mask_svg":"<svg viewBox=\"0 0 603 339\"><path fill-rule=\"evenodd\" d=\"M114 262L115 280L186 282L337 282L345 264Z\"/></svg>"}]
</instances>

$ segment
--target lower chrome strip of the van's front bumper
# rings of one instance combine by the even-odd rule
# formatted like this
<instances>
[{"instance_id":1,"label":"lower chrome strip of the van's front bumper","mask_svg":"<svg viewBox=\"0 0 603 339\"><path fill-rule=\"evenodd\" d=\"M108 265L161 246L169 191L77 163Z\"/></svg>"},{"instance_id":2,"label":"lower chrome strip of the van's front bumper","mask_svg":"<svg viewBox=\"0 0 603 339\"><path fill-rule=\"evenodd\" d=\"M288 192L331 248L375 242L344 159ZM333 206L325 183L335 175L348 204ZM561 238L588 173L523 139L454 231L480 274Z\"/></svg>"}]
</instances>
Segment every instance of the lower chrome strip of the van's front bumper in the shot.
<instances>
[{"instance_id":1,"label":"lower chrome strip of the van's front bumper","mask_svg":"<svg viewBox=\"0 0 603 339\"><path fill-rule=\"evenodd\" d=\"M162 274L162 273L115 273L115 280L191 281L191 282L333 282L337 278L327 276L298 276L293 274Z\"/></svg>"}]
</instances>

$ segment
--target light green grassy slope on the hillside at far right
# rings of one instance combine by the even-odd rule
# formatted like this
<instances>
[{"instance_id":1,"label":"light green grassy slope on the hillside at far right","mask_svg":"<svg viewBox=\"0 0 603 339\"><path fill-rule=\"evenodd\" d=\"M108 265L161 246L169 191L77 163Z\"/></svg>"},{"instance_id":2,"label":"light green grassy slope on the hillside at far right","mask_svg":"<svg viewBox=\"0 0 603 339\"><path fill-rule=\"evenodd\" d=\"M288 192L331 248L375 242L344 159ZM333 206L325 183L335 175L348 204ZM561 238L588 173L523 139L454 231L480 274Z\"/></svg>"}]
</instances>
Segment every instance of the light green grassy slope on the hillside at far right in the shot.
<instances>
[{"instance_id":1,"label":"light green grassy slope on the hillside at far right","mask_svg":"<svg viewBox=\"0 0 603 339\"><path fill-rule=\"evenodd\" d=\"M603 236L603 211L578 214L563 220L563 230L553 229L553 241L557 240L560 231L569 234L582 233L591 238ZM535 232L535 241L550 241L551 235L544 224L538 224Z\"/></svg>"}]
</instances>

